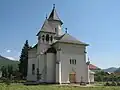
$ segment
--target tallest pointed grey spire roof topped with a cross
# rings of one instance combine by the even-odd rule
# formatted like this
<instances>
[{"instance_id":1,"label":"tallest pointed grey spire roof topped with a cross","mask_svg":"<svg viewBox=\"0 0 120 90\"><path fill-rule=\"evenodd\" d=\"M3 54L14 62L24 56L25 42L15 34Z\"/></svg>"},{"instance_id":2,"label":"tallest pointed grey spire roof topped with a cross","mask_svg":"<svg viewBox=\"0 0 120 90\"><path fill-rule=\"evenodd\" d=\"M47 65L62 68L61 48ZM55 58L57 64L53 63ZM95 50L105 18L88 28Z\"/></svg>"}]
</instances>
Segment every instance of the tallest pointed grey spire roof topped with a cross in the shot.
<instances>
[{"instance_id":1,"label":"tallest pointed grey spire roof topped with a cross","mask_svg":"<svg viewBox=\"0 0 120 90\"><path fill-rule=\"evenodd\" d=\"M53 6L52 12L50 13L50 16L49 16L48 20L59 21L61 24L63 24L63 22L58 17L58 14L57 14L56 9L55 9L55 4Z\"/></svg>"}]
</instances>

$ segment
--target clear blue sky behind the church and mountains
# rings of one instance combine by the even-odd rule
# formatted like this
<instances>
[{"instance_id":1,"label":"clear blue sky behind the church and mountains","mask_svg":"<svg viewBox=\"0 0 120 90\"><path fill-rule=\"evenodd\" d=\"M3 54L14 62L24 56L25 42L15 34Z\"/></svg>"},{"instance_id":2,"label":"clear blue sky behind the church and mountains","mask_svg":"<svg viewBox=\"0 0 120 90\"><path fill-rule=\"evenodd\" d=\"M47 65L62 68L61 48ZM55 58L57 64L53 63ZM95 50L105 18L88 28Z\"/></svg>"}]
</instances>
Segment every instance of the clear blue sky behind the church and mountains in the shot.
<instances>
[{"instance_id":1,"label":"clear blue sky behind the church and mountains","mask_svg":"<svg viewBox=\"0 0 120 90\"><path fill-rule=\"evenodd\" d=\"M0 54L19 58L26 39L35 36L56 4L64 28L87 48L91 63L120 65L120 0L0 0Z\"/></svg>"}]
</instances>

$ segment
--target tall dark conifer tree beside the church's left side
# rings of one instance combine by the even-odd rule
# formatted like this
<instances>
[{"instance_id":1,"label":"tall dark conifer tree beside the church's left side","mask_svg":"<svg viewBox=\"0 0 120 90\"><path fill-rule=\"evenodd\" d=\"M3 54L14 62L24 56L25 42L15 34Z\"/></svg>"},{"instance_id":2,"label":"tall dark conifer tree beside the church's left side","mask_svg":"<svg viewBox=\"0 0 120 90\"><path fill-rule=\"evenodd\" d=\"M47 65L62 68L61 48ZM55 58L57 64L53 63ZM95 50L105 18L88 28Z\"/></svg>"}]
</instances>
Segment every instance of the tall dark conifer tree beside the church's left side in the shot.
<instances>
[{"instance_id":1,"label":"tall dark conifer tree beside the church's left side","mask_svg":"<svg viewBox=\"0 0 120 90\"><path fill-rule=\"evenodd\" d=\"M27 68L28 68L28 50L29 44L28 40L26 40L23 49L21 51L20 63L19 63L19 72L22 74L22 78L27 76Z\"/></svg>"}]
</instances>

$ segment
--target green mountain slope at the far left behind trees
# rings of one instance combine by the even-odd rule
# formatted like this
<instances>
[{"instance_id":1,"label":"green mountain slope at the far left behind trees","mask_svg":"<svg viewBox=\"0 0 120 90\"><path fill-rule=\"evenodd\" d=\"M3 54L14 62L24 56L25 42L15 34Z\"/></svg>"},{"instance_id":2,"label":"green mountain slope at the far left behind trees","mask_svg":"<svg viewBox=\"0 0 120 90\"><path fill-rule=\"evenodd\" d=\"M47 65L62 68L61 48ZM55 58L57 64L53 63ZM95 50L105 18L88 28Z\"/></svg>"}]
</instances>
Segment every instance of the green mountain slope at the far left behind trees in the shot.
<instances>
[{"instance_id":1,"label":"green mountain slope at the far left behind trees","mask_svg":"<svg viewBox=\"0 0 120 90\"><path fill-rule=\"evenodd\" d=\"M18 63L19 61L13 61L0 55L0 68L2 66L13 65L13 68L15 69L18 68Z\"/></svg>"}]
</instances>

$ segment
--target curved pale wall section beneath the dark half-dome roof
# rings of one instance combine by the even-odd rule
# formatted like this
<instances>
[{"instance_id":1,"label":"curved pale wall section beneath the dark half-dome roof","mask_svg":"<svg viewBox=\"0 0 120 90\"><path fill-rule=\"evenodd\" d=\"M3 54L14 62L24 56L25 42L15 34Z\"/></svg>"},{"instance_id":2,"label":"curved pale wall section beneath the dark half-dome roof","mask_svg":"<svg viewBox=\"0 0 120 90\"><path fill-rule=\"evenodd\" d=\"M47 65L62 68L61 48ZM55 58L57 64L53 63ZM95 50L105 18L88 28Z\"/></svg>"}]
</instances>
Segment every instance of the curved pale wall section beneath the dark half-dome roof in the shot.
<instances>
[{"instance_id":1,"label":"curved pale wall section beneath the dark half-dome roof","mask_svg":"<svg viewBox=\"0 0 120 90\"><path fill-rule=\"evenodd\" d=\"M55 82L55 54L47 53L47 77L46 82L54 83Z\"/></svg>"}]
</instances>

